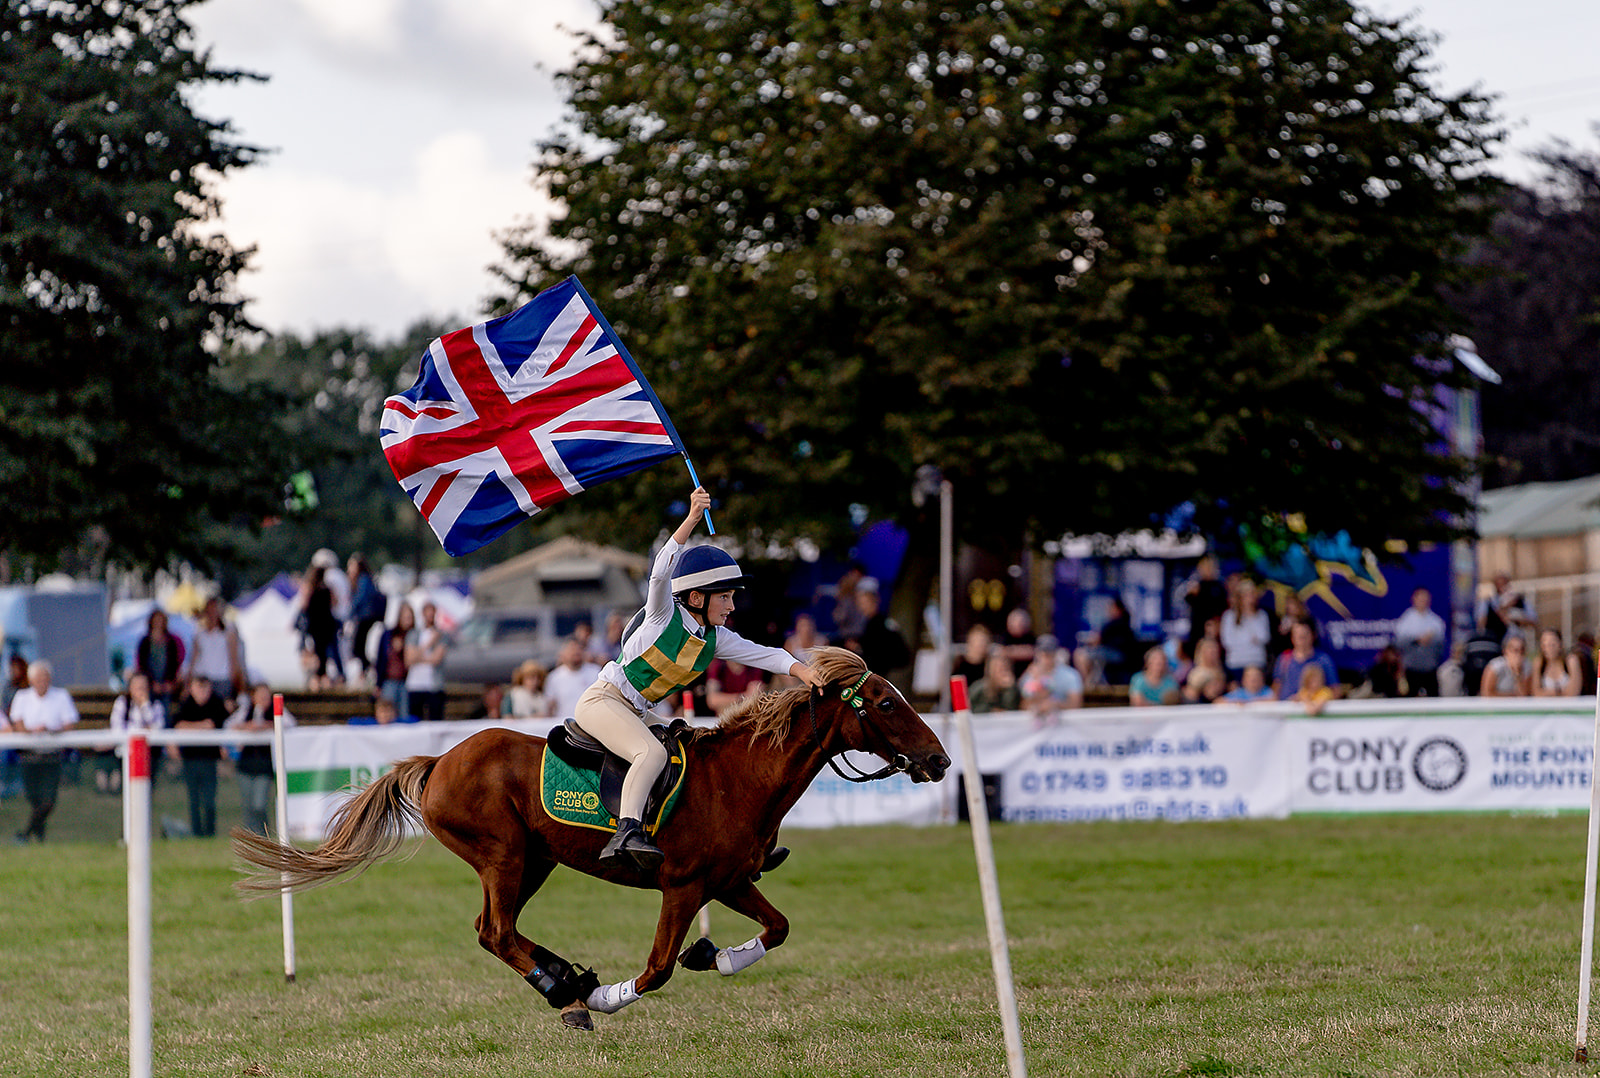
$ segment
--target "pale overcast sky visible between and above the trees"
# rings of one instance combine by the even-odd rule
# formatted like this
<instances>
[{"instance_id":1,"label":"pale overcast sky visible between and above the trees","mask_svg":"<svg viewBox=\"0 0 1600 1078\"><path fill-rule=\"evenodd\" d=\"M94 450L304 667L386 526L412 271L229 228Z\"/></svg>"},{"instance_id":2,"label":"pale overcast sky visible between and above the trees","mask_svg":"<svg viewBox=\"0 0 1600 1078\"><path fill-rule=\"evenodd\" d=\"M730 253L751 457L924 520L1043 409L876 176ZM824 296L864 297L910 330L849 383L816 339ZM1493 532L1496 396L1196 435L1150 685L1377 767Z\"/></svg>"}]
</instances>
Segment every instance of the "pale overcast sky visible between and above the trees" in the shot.
<instances>
[{"instance_id":1,"label":"pale overcast sky visible between and above the trees","mask_svg":"<svg viewBox=\"0 0 1600 1078\"><path fill-rule=\"evenodd\" d=\"M1499 170L1565 138L1595 149L1600 0L1379 0L1437 30L1438 83L1501 94L1515 128ZM475 321L493 234L544 206L533 146L560 117L550 78L594 22L589 0L206 0L214 61L269 77L208 90L198 110L272 150L221 187L224 229L256 245L243 280L269 329Z\"/></svg>"}]
</instances>

